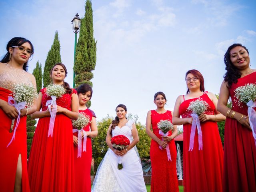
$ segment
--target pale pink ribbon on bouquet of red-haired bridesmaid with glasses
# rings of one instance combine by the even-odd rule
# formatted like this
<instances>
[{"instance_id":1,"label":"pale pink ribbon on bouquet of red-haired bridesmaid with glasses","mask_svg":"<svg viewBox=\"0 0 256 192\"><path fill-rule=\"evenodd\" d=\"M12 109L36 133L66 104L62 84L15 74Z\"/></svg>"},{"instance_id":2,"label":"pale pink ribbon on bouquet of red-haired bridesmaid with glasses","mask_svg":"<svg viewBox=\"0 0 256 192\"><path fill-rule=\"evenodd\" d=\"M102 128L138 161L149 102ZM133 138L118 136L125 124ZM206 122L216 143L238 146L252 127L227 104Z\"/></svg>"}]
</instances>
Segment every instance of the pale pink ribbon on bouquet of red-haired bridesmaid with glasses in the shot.
<instances>
[{"instance_id":1,"label":"pale pink ribbon on bouquet of red-haired bridesmaid with glasses","mask_svg":"<svg viewBox=\"0 0 256 192\"><path fill-rule=\"evenodd\" d=\"M200 125L200 120L197 114L192 113L191 114L193 121L191 126L191 132L190 132L190 142L189 142L189 149L188 151L192 151L194 148L194 138L196 133L196 127L198 132L198 150L203 150L203 139L202 139L202 130Z\"/></svg>"}]
</instances>

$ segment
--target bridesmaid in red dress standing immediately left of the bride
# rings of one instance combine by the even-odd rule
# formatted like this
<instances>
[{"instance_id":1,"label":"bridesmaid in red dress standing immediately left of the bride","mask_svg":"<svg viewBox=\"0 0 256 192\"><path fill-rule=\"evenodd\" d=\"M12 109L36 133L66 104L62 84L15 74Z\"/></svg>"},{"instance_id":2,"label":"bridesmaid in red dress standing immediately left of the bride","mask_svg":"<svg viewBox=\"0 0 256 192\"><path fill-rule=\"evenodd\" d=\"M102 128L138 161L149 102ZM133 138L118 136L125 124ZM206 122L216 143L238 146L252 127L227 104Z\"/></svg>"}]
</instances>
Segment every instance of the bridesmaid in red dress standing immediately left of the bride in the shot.
<instances>
[{"instance_id":1,"label":"bridesmaid in red dress standing immediately left of the bride","mask_svg":"<svg viewBox=\"0 0 256 192\"><path fill-rule=\"evenodd\" d=\"M92 164L92 140L98 135L95 113L86 107L86 103L92 98L92 88L87 84L82 84L76 88L79 100L79 113L90 118L90 123L83 129L86 133L86 151L83 151L84 138L82 138L82 154L78 157L78 132L73 133L74 141L74 163L75 163L75 184L76 191L91 191L91 164ZM90 130L91 128L91 130ZM82 137L84 133L82 132Z\"/></svg>"}]
</instances>

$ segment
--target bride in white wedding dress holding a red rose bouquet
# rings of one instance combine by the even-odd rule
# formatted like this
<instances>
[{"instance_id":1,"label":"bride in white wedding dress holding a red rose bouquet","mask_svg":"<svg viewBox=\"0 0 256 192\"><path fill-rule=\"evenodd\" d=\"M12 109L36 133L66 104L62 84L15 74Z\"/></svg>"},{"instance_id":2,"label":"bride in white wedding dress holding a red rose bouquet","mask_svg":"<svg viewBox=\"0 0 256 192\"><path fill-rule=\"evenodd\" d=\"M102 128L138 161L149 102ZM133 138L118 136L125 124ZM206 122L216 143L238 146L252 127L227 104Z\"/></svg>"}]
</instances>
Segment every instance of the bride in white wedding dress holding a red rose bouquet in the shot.
<instances>
[{"instance_id":1,"label":"bride in white wedding dress holding a red rose bouquet","mask_svg":"<svg viewBox=\"0 0 256 192\"><path fill-rule=\"evenodd\" d=\"M92 186L92 192L146 192L142 166L134 146L139 142L139 136L133 120L126 120L125 105L116 107L116 118L110 124L106 136L109 147L104 156ZM118 151L112 147L111 138L124 135L130 140L130 145ZM118 156L122 157L123 168L118 170Z\"/></svg>"}]
</instances>

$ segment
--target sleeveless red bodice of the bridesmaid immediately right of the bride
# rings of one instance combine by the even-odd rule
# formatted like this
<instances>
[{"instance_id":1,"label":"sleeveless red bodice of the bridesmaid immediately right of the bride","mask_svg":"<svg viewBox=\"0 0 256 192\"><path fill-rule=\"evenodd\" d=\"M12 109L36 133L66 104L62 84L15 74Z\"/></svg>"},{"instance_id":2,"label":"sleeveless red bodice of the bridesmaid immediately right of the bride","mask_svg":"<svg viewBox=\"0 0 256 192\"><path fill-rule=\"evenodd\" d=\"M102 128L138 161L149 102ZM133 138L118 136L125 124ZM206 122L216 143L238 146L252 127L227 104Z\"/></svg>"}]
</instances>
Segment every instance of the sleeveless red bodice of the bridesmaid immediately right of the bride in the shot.
<instances>
[{"instance_id":1,"label":"sleeveless red bodice of the bridesmaid immediately right of the bride","mask_svg":"<svg viewBox=\"0 0 256 192\"><path fill-rule=\"evenodd\" d=\"M156 110L151 110L151 124L152 124L152 130L154 134L158 137L159 135L159 129L157 127L158 122L160 120L170 120L172 122L172 112L166 111L165 113L158 113ZM171 134L171 131L169 131L169 135Z\"/></svg>"}]
</instances>

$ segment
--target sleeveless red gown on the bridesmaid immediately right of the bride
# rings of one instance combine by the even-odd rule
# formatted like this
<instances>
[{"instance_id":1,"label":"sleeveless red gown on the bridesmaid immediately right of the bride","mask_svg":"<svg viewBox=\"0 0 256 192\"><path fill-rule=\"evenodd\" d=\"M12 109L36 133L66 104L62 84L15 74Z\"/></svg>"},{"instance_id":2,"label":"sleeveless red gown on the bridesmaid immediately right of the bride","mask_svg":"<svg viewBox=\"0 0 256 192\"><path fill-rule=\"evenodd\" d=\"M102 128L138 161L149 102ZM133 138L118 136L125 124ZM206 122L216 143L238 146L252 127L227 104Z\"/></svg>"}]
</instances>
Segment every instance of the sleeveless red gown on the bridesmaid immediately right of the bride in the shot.
<instances>
[{"instance_id":1,"label":"sleeveless red gown on the bridesmaid immediately right of the bride","mask_svg":"<svg viewBox=\"0 0 256 192\"><path fill-rule=\"evenodd\" d=\"M172 122L172 112L166 111L159 114L151 110L151 124L154 134L161 139L157 123L160 120L170 120ZM168 136L172 134L169 131ZM174 139L168 142L172 161L168 160L166 149L160 149L156 141L151 140L150 160L152 166L151 192L178 192L178 178L176 172L177 150Z\"/></svg>"}]
</instances>

